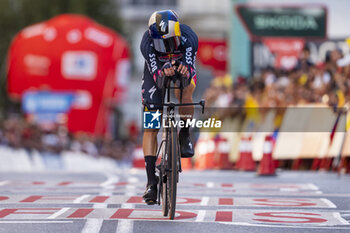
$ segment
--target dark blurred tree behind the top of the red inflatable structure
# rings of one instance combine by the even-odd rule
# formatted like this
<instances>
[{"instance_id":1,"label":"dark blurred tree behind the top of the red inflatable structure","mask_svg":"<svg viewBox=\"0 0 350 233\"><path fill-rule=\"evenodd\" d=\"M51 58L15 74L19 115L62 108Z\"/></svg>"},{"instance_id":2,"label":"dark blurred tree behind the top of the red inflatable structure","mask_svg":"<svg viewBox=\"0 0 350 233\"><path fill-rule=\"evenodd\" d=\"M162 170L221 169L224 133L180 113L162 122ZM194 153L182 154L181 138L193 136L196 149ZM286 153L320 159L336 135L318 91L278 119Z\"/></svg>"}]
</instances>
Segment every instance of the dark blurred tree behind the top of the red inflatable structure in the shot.
<instances>
[{"instance_id":1,"label":"dark blurred tree behind the top of the red inflatable structure","mask_svg":"<svg viewBox=\"0 0 350 233\"><path fill-rule=\"evenodd\" d=\"M0 0L0 111L9 110L6 53L12 38L24 27L58 14L84 14L123 34L115 0Z\"/></svg>"}]
</instances>

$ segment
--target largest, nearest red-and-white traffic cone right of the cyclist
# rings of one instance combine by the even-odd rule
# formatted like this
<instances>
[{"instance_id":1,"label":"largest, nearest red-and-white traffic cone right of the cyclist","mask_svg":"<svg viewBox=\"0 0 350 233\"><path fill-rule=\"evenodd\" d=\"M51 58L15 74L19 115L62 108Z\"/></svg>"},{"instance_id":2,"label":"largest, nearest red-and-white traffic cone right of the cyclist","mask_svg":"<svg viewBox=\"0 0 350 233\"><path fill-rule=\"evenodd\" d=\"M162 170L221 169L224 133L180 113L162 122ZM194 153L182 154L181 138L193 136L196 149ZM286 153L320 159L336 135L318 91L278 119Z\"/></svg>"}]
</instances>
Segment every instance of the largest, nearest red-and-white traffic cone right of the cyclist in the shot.
<instances>
[{"instance_id":1,"label":"largest, nearest red-and-white traffic cone right of the cyclist","mask_svg":"<svg viewBox=\"0 0 350 233\"><path fill-rule=\"evenodd\" d=\"M264 154L263 158L260 161L260 165L258 168L259 176L274 176L275 172L275 162L272 158L272 150L273 150L273 139L271 135L267 135L265 137L264 142Z\"/></svg>"}]
</instances>

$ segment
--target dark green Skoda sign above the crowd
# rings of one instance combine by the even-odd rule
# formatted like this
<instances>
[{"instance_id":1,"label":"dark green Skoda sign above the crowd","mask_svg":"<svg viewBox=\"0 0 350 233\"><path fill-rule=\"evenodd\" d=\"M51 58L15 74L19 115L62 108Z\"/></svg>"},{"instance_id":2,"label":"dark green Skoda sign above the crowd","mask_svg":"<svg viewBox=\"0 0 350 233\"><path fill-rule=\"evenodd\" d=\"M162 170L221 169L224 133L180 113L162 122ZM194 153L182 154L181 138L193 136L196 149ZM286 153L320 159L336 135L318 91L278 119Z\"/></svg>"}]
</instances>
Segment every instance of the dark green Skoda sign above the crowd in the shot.
<instances>
[{"instance_id":1,"label":"dark green Skoda sign above the crowd","mask_svg":"<svg viewBox=\"0 0 350 233\"><path fill-rule=\"evenodd\" d=\"M254 37L327 36L327 9L318 5L237 5L240 20Z\"/></svg>"}]
</instances>

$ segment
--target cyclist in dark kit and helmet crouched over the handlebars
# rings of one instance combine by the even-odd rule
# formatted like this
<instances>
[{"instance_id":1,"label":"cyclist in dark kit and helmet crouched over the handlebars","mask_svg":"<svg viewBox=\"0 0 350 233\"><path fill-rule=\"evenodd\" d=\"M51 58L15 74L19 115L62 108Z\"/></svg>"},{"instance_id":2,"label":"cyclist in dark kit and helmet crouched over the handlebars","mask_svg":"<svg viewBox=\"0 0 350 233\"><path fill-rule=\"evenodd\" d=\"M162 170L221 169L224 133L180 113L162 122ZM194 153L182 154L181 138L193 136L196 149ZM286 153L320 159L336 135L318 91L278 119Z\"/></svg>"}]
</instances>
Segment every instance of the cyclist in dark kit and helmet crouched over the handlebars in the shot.
<instances>
[{"instance_id":1,"label":"cyclist in dark kit and helmet crouched over the handlebars","mask_svg":"<svg viewBox=\"0 0 350 233\"><path fill-rule=\"evenodd\" d=\"M183 90L182 101L192 103L196 76L196 54L198 38L187 25L179 23L178 15L173 10L156 11L148 22L148 31L143 35L140 49L145 58L142 80L142 100L156 103L146 111L162 110L157 104L162 103L162 81L167 76L174 76L175 71L187 78L188 85ZM177 61L175 63L175 61ZM179 64L175 66L175 64ZM179 90L175 90L179 99ZM193 106L179 108L182 120L192 118ZM147 188L143 199L147 204L157 200L157 177L155 175L158 130L145 129L143 132L143 153L145 156ZM179 133L181 157L192 157L194 150L190 140L189 128L181 128Z\"/></svg>"}]
</instances>

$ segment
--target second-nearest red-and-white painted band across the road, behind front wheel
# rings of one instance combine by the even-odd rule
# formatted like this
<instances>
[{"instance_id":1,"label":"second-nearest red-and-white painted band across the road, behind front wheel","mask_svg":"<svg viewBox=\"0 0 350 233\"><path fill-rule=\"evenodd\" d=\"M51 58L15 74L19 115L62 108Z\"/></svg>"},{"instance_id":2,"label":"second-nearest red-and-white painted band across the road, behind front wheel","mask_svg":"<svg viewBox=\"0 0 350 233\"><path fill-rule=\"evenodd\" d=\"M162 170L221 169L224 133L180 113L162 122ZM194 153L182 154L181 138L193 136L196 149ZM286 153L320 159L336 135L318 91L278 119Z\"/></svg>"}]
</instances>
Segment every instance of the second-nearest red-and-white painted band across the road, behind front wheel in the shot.
<instances>
[{"instance_id":1,"label":"second-nearest red-and-white painted band across the road, behind front wheel","mask_svg":"<svg viewBox=\"0 0 350 233\"><path fill-rule=\"evenodd\" d=\"M112 192L100 192L97 195L3 195L0 196L1 204L28 203L40 204L83 204L94 205L94 208L106 208L109 204L122 205L122 208L133 209L135 205L144 204L141 195L130 190L131 195L113 195ZM230 196L186 196L178 197L179 205L194 206L245 206L245 207L290 207L290 208L331 208L336 205L326 198L276 198L276 197L230 197ZM27 206L23 206L27 207Z\"/></svg>"}]
</instances>

